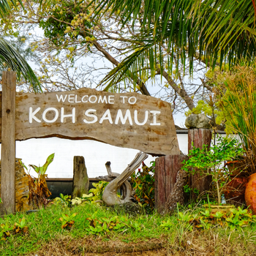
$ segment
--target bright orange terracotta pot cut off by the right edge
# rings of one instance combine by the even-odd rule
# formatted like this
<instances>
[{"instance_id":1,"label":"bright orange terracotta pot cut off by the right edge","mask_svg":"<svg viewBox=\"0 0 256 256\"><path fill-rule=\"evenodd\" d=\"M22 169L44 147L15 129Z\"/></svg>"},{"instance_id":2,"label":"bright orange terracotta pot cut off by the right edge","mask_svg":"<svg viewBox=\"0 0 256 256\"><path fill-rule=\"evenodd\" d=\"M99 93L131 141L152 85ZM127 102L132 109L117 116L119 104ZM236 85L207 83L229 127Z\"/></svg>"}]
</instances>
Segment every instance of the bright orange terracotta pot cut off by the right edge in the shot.
<instances>
[{"instance_id":1,"label":"bright orange terracotta pot cut off by the right edge","mask_svg":"<svg viewBox=\"0 0 256 256\"><path fill-rule=\"evenodd\" d=\"M245 189L246 205L256 214L256 173L249 176L249 181Z\"/></svg>"}]
</instances>

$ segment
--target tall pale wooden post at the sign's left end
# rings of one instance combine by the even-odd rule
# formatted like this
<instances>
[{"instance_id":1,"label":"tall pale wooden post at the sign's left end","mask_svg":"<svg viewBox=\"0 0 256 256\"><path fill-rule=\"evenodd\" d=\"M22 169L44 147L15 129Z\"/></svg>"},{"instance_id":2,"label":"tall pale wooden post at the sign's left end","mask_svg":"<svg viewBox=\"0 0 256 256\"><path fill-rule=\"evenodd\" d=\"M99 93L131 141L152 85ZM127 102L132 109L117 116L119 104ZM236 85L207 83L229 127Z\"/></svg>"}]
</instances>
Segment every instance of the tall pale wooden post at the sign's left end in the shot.
<instances>
[{"instance_id":1,"label":"tall pale wooden post at the sign's left end","mask_svg":"<svg viewBox=\"0 0 256 256\"><path fill-rule=\"evenodd\" d=\"M1 103L1 213L15 212L16 73L4 71Z\"/></svg>"}]
</instances>

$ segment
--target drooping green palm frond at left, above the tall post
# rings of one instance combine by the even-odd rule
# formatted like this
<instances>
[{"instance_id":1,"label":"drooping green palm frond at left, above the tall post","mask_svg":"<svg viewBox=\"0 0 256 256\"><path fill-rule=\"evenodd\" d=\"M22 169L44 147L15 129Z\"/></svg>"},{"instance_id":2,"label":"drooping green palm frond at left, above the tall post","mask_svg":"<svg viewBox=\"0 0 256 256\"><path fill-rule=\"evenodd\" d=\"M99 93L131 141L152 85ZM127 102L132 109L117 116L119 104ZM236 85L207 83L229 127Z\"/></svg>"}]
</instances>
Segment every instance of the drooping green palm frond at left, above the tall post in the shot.
<instances>
[{"instance_id":1,"label":"drooping green palm frond at left, above the tall post","mask_svg":"<svg viewBox=\"0 0 256 256\"><path fill-rule=\"evenodd\" d=\"M42 91L39 80L36 75L34 75L33 70L23 58L8 42L0 38L0 64L10 67L12 70L17 72L18 79L20 79L20 74L23 75L25 80L31 83L35 92Z\"/></svg>"}]
</instances>

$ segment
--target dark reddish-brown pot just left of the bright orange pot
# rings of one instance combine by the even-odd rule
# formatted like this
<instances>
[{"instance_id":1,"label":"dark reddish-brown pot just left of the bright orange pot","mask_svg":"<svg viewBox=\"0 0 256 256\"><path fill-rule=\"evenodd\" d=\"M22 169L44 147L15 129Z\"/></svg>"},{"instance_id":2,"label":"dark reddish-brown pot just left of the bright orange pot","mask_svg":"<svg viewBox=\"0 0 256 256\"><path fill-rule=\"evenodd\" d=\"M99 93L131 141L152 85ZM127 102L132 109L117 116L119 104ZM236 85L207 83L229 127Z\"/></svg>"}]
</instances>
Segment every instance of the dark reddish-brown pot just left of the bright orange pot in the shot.
<instances>
[{"instance_id":1,"label":"dark reddish-brown pot just left of the bright orange pot","mask_svg":"<svg viewBox=\"0 0 256 256\"><path fill-rule=\"evenodd\" d=\"M226 186L224 192L225 199L230 199L237 203L245 203L244 193L247 183L248 178L246 177L233 178Z\"/></svg>"}]
</instances>

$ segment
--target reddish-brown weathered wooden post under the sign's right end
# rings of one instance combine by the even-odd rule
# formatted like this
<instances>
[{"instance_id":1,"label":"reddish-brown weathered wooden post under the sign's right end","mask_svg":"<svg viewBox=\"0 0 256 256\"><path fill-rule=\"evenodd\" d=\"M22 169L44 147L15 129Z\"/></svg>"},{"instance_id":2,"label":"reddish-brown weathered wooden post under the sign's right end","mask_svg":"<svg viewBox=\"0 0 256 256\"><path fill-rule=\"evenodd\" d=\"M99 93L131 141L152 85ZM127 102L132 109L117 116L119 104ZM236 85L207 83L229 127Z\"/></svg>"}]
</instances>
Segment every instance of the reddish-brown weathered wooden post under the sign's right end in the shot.
<instances>
[{"instance_id":1,"label":"reddish-brown weathered wooden post under the sign's right end","mask_svg":"<svg viewBox=\"0 0 256 256\"><path fill-rule=\"evenodd\" d=\"M178 170L181 170L182 162L187 159L183 154L168 155L156 159L154 178L155 208L160 213L165 209L165 203L170 197L171 189L176 184Z\"/></svg>"}]
</instances>

